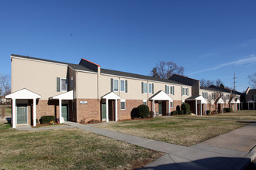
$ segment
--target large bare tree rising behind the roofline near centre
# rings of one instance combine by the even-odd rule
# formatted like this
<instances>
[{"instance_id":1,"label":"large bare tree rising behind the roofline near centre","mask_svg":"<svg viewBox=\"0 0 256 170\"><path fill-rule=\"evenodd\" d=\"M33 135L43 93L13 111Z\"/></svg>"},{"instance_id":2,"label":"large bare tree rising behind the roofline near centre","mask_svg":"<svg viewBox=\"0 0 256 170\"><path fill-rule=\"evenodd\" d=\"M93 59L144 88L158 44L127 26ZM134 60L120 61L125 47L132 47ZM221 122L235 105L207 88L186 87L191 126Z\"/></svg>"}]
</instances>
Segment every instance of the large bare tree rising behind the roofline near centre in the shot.
<instances>
[{"instance_id":1,"label":"large bare tree rising behind the roofline near centre","mask_svg":"<svg viewBox=\"0 0 256 170\"><path fill-rule=\"evenodd\" d=\"M164 62L160 61L157 65L150 71L151 76L168 79L173 74L184 75L184 67L177 66L174 62Z\"/></svg>"}]
</instances>

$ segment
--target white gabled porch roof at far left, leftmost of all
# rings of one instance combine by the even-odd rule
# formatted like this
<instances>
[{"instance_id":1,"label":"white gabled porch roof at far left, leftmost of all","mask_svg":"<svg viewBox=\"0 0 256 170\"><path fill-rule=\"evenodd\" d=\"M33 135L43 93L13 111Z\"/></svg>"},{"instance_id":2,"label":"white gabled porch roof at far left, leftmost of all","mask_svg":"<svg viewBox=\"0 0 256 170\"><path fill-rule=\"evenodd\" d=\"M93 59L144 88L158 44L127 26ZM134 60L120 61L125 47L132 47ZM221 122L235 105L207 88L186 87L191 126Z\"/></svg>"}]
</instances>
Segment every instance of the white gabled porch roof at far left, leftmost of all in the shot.
<instances>
[{"instance_id":1,"label":"white gabled porch roof at far left, leftmost of all","mask_svg":"<svg viewBox=\"0 0 256 170\"><path fill-rule=\"evenodd\" d=\"M5 96L6 99L40 99L41 96L26 88L10 93Z\"/></svg>"}]
</instances>

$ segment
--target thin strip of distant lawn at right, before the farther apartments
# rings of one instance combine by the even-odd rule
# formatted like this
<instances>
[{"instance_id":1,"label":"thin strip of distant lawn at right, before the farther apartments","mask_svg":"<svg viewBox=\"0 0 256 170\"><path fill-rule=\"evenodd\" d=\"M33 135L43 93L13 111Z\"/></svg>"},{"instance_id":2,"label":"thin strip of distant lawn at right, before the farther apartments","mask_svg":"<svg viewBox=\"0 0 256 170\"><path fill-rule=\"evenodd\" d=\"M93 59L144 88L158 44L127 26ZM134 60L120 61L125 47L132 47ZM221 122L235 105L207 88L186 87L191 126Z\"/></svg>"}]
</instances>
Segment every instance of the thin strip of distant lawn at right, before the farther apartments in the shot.
<instances>
[{"instance_id":1,"label":"thin strip of distant lawn at right, before the farther apartments","mask_svg":"<svg viewBox=\"0 0 256 170\"><path fill-rule=\"evenodd\" d=\"M177 117L195 117L191 115L177 115ZM200 118L201 116L199 116ZM255 120L256 110L238 110L223 114L210 114L202 116L203 118L218 118L218 119L236 119L236 120Z\"/></svg>"}]
</instances>

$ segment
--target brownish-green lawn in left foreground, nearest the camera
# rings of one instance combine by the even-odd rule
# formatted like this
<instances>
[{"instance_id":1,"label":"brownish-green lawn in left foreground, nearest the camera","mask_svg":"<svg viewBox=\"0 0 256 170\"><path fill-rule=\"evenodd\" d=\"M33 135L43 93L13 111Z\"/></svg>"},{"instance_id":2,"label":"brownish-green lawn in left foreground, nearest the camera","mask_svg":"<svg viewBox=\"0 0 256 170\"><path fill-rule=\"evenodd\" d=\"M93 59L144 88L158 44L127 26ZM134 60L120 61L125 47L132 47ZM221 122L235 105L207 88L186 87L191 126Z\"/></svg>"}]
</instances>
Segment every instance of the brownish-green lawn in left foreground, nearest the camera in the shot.
<instances>
[{"instance_id":1,"label":"brownish-green lawn in left foreground, nearest the camera","mask_svg":"<svg viewBox=\"0 0 256 170\"><path fill-rule=\"evenodd\" d=\"M75 128L16 131L0 124L0 169L133 169L164 155Z\"/></svg>"}]
</instances>

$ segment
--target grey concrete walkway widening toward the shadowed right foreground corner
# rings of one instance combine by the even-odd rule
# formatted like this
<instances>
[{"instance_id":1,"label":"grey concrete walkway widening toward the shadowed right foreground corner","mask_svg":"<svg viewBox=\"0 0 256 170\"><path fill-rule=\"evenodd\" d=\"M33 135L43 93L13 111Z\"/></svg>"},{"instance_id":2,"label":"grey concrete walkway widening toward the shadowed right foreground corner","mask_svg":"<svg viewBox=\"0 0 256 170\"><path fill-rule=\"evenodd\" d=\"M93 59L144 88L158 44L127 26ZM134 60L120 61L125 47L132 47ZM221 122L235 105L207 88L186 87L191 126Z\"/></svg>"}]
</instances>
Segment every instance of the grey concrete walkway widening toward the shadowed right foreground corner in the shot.
<instances>
[{"instance_id":1,"label":"grey concrete walkway widening toward the shadowed right foreground corner","mask_svg":"<svg viewBox=\"0 0 256 170\"><path fill-rule=\"evenodd\" d=\"M227 134L220 135L220 137L212 138L192 147L173 145L130 134L94 128L93 126L97 124L84 125L74 122L66 122L65 124L167 153L146 165L143 169L243 169L251 162L251 158L256 157L256 148L249 151L249 148L256 145L256 124L249 124L244 128L230 131Z\"/></svg>"}]
</instances>

